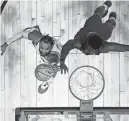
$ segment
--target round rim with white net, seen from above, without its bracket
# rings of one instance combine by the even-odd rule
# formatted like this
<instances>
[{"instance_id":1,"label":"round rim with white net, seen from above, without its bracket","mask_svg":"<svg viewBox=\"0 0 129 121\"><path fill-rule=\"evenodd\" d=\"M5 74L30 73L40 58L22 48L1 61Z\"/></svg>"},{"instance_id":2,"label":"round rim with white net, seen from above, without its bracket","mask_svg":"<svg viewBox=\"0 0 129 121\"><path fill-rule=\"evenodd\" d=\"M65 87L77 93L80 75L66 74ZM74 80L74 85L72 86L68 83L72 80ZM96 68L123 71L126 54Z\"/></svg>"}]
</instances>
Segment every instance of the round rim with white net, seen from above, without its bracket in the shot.
<instances>
[{"instance_id":1,"label":"round rim with white net, seen from above, without its bracket","mask_svg":"<svg viewBox=\"0 0 129 121\"><path fill-rule=\"evenodd\" d=\"M80 100L97 98L102 93L104 84L101 72L91 66L76 69L69 79L72 94Z\"/></svg>"}]
</instances>

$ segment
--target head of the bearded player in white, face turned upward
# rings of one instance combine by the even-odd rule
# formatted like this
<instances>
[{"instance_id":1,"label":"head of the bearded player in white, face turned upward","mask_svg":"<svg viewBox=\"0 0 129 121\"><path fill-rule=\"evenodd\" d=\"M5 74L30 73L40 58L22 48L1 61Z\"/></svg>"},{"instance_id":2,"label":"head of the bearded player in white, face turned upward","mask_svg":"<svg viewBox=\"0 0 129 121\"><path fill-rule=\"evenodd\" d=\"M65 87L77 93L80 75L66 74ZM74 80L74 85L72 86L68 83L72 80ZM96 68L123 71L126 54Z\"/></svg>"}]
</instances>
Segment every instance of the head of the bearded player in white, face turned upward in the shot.
<instances>
[{"instance_id":1,"label":"head of the bearded player in white, face turned upward","mask_svg":"<svg viewBox=\"0 0 129 121\"><path fill-rule=\"evenodd\" d=\"M53 38L48 36L48 35L45 35L41 38L40 40L40 44L39 44L39 50L40 50L40 54L42 56L46 56L50 53L52 47L54 45L54 42L53 42Z\"/></svg>"}]
</instances>

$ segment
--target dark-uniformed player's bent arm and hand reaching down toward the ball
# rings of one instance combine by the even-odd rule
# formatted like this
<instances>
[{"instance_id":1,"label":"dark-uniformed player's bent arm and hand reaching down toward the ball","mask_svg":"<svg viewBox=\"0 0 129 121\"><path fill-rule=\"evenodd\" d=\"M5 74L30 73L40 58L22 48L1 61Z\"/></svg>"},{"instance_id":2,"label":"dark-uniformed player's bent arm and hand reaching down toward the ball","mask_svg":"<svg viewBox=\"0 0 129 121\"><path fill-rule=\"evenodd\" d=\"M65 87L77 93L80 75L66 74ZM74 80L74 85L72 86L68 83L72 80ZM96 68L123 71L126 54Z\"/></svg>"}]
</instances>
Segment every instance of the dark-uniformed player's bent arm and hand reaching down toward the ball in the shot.
<instances>
[{"instance_id":1,"label":"dark-uniformed player's bent arm and hand reaching down toward the ball","mask_svg":"<svg viewBox=\"0 0 129 121\"><path fill-rule=\"evenodd\" d=\"M69 54L70 50L76 48L75 47L75 41L74 40L69 40L66 44L63 45L62 50L61 50L61 57L60 57L60 69L61 69L61 74L68 72L68 68L65 65L65 59L67 55Z\"/></svg>"}]
</instances>

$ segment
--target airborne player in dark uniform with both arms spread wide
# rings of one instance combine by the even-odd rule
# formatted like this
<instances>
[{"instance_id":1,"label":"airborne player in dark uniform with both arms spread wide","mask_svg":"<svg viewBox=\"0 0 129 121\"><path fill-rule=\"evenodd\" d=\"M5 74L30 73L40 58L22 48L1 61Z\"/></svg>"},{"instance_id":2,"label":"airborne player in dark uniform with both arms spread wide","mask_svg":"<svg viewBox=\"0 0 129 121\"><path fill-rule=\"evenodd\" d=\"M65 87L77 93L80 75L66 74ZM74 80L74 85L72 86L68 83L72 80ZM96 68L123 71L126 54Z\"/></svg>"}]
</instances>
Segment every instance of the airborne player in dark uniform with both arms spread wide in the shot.
<instances>
[{"instance_id":1,"label":"airborne player in dark uniform with both arms spread wide","mask_svg":"<svg viewBox=\"0 0 129 121\"><path fill-rule=\"evenodd\" d=\"M103 5L96 8L94 14L86 20L84 27L77 32L74 39L63 45L60 58L61 73L68 71L65 65L65 58L69 51L74 48L79 49L85 55L99 55L110 51L129 51L129 45L107 42L116 26L117 15L115 12L111 12L105 23L102 23L102 18L108 14L108 9L111 6L112 2L106 1Z\"/></svg>"}]
</instances>

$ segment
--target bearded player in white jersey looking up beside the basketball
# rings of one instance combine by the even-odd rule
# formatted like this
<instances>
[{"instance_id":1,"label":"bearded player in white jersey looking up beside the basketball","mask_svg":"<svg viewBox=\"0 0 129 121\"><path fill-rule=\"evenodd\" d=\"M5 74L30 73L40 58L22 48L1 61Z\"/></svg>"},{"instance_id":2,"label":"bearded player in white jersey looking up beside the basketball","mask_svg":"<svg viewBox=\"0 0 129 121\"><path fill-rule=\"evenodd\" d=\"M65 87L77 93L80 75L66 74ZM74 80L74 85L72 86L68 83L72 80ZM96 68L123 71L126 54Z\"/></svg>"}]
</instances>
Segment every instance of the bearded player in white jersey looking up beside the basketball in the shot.
<instances>
[{"instance_id":1,"label":"bearded player in white jersey looking up beside the basketball","mask_svg":"<svg viewBox=\"0 0 129 121\"><path fill-rule=\"evenodd\" d=\"M39 29L39 26L36 25L34 27L28 27L23 31L16 33L3 45L1 45L1 51L2 51L1 55L4 54L6 48L11 43L22 38L32 41L32 44L37 50L37 53L39 53L43 62L47 63L48 65L46 71L50 72L49 67L52 68L52 72L54 72L52 76L54 78L56 76L56 73L58 72L57 65L59 64L59 60L60 60L60 51L62 49L61 43L49 35L43 35ZM41 65L41 66L44 67L44 65ZM39 69L39 68L36 68L36 69ZM37 77L37 70L35 70L35 73ZM50 78L40 79L40 81L42 81L43 83L39 86L39 89L38 89L39 93L46 92L50 84L49 79Z\"/></svg>"}]
</instances>

